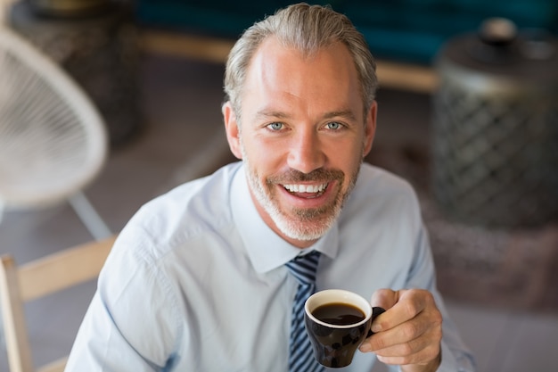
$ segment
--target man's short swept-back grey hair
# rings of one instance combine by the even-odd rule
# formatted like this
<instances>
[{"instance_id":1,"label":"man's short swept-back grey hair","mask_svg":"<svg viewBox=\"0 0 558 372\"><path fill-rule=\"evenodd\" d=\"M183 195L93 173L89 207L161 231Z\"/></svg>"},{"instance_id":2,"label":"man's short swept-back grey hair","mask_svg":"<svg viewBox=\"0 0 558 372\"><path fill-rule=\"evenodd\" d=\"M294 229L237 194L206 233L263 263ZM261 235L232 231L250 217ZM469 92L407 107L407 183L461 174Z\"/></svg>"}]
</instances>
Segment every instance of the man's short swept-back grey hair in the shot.
<instances>
[{"instance_id":1,"label":"man's short swept-back grey hair","mask_svg":"<svg viewBox=\"0 0 558 372\"><path fill-rule=\"evenodd\" d=\"M258 46L271 36L304 55L315 54L336 42L347 45L357 68L365 113L368 112L378 87L378 79L376 64L365 37L347 16L334 12L329 6L301 3L290 5L254 23L244 31L231 50L226 62L225 93L233 105L237 120L241 117L242 86L251 58Z\"/></svg>"}]
</instances>

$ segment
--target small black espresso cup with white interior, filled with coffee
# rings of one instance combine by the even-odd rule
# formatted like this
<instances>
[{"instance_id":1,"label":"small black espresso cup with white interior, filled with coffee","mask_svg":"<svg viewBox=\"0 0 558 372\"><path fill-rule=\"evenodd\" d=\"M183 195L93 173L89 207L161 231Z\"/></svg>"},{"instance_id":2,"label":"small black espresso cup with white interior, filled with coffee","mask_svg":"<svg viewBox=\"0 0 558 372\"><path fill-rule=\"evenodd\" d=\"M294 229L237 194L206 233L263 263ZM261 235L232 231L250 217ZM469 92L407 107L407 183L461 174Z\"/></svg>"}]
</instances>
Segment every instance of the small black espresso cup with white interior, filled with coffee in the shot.
<instances>
[{"instance_id":1,"label":"small black espresso cup with white interior, filled with coffee","mask_svg":"<svg viewBox=\"0 0 558 372\"><path fill-rule=\"evenodd\" d=\"M312 294L304 305L306 330L314 357L325 367L349 366L382 308L372 308L362 296L342 289Z\"/></svg>"}]
</instances>

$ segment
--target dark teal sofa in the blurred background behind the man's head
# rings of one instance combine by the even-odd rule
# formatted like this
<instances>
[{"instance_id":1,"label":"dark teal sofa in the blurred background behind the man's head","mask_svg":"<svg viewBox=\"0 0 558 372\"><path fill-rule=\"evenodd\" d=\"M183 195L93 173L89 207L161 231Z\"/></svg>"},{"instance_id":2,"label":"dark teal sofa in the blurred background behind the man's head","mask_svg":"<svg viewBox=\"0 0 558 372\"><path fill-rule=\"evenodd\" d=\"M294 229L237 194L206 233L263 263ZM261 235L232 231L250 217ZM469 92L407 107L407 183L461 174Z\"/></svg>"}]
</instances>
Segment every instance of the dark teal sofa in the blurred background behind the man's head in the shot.
<instances>
[{"instance_id":1,"label":"dark teal sofa in the blurred background behind the man's head","mask_svg":"<svg viewBox=\"0 0 558 372\"><path fill-rule=\"evenodd\" d=\"M236 38L266 14L292 2L282 0L136 0L145 27ZM488 17L505 17L520 29L558 32L556 0L332 0L366 37L378 58L429 64L447 39L478 29Z\"/></svg>"}]
</instances>

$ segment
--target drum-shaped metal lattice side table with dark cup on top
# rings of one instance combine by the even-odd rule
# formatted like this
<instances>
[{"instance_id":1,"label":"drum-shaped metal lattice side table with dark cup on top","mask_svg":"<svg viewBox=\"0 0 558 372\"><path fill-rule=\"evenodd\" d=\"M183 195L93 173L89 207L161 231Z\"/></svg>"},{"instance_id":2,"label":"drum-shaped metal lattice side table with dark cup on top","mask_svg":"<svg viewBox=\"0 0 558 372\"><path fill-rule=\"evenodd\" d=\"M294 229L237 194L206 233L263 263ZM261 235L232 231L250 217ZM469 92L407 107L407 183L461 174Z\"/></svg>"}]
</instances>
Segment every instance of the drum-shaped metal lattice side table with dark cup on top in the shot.
<instances>
[{"instance_id":1,"label":"drum-shaped metal lattice side table with dark cup on top","mask_svg":"<svg viewBox=\"0 0 558 372\"><path fill-rule=\"evenodd\" d=\"M533 227L558 218L558 43L491 19L436 64L433 193L453 219Z\"/></svg>"}]
</instances>

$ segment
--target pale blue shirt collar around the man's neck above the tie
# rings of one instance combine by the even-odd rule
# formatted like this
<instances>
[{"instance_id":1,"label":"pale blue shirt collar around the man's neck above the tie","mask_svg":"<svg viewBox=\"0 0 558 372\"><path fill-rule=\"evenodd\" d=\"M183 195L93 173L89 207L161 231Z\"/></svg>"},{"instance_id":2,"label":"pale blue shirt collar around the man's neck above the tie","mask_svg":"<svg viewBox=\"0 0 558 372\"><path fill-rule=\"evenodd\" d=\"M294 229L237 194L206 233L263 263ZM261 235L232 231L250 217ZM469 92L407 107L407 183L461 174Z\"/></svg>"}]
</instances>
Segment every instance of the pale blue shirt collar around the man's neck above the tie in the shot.
<instances>
[{"instance_id":1,"label":"pale blue shirt collar around the man's neck above the tie","mask_svg":"<svg viewBox=\"0 0 558 372\"><path fill-rule=\"evenodd\" d=\"M335 258L339 251L339 228L335 222L315 244L308 248L300 249L283 240L281 236L267 226L259 216L254 205L246 180L245 165L234 175L231 187L231 208L233 218L246 252L254 269L264 273L283 266L299 254L311 251L324 253L330 258Z\"/></svg>"}]
</instances>

